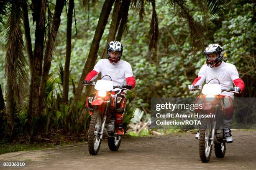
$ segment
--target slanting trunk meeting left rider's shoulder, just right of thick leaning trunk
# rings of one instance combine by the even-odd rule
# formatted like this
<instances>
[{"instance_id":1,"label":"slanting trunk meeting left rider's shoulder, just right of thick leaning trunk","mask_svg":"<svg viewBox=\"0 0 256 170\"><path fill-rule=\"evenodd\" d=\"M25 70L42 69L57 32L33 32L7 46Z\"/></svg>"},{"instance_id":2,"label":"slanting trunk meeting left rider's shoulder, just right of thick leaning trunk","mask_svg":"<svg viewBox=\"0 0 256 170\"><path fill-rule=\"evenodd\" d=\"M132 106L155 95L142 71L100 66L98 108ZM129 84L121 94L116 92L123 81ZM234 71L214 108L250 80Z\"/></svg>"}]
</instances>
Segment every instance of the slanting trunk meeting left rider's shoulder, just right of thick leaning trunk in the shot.
<instances>
[{"instance_id":1,"label":"slanting trunk meeting left rider's shoulder, just right of thick leaning trunk","mask_svg":"<svg viewBox=\"0 0 256 170\"><path fill-rule=\"evenodd\" d=\"M108 34L108 40L107 40L107 45L110 41L115 40L115 32L116 32L116 25L119 23L118 22L118 14L120 11L120 5L121 5L121 0L116 0L115 2L115 6L113 9L113 13L112 13L112 20L111 20L111 24L110 24L110 30L109 30L109 34ZM120 20L119 20L120 22ZM107 45L104 48L104 51L101 55L101 58L107 58Z\"/></svg>"}]
</instances>

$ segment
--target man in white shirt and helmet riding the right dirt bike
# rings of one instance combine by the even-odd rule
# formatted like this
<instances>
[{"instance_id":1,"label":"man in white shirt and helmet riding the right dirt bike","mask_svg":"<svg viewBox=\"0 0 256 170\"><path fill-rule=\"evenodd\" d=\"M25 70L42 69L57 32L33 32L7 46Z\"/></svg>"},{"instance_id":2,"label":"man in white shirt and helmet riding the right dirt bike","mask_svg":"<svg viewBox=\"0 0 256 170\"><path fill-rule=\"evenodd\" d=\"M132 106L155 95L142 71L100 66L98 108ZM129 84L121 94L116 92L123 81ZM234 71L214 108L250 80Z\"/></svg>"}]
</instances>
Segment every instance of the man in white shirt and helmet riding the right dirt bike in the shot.
<instances>
[{"instance_id":1,"label":"man in white shirt and helmet riding the right dirt bike","mask_svg":"<svg viewBox=\"0 0 256 170\"><path fill-rule=\"evenodd\" d=\"M223 59L223 48L218 44L210 44L206 47L204 54L206 55L206 64L203 65L198 73L198 77L193 81L192 85L188 86L191 91L195 90L196 85L202 85L204 81L215 78L220 80L221 87L233 87L233 83L236 87L234 90L236 92L243 92L244 82L239 78L236 66L230 63L222 61ZM216 84L218 80L212 80L209 83ZM233 92L222 92L221 97L223 97L225 116L223 117L223 128L225 133L225 138L227 143L233 142L233 137L231 135L231 121L233 117ZM197 98L196 102L200 103L202 100L200 97ZM198 110L196 110L198 111ZM199 131L197 132L196 139L199 139Z\"/></svg>"}]
</instances>

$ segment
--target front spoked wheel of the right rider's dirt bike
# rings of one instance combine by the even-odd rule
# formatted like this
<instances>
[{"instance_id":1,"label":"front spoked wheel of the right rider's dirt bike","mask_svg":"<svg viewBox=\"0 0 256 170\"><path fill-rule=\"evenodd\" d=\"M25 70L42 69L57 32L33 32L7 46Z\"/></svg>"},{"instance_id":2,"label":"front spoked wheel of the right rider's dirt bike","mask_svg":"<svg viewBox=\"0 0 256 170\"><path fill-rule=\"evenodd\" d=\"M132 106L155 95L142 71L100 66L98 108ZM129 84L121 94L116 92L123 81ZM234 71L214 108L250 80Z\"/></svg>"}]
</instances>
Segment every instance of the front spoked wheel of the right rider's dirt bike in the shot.
<instances>
[{"instance_id":1,"label":"front spoked wheel of the right rider's dirt bike","mask_svg":"<svg viewBox=\"0 0 256 170\"><path fill-rule=\"evenodd\" d=\"M207 163L210 160L212 145L210 145L210 138L212 134L212 128L210 120L201 120L200 138L199 138L199 153L203 163Z\"/></svg>"}]
</instances>

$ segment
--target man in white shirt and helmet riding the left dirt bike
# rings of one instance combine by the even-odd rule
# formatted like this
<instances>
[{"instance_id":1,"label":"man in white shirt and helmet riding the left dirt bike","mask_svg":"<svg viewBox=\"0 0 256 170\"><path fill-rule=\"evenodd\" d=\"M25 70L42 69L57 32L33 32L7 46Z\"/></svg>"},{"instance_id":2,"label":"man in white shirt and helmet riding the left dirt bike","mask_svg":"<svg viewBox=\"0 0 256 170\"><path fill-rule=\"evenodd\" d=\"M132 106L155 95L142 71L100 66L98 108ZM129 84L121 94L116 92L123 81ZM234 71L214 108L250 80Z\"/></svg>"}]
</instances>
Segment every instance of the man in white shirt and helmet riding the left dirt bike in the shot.
<instances>
[{"instance_id":1,"label":"man in white shirt and helmet riding the left dirt bike","mask_svg":"<svg viewBox=\"0 0 256 170\"><path fill-rule=\"evenodd\" d=\"M101 76L109 75L112 78L114 86L122 86L126 84L126 87L130 89L134 88L136 80L133 76L133 70L130 63L121 60L123 53L123 45L119 41L111 41L107 46L107 56L108 59L99 60L93 70L88 73L83 80L83 85L90 84L90 81L94 80L98 74L101 72ZM107 80L108 76L102 78L102 80ZM123 129L123 113L125 109L125 96L126 91L121 91L118 88L115 88L112 93L114 98L114 111L115 119L117 123L116 132L118 135L124 135ZM91 103L94 99L95 94L90 95L88 98L89 110L93 109Z\"/></svg>"}]
</instances>

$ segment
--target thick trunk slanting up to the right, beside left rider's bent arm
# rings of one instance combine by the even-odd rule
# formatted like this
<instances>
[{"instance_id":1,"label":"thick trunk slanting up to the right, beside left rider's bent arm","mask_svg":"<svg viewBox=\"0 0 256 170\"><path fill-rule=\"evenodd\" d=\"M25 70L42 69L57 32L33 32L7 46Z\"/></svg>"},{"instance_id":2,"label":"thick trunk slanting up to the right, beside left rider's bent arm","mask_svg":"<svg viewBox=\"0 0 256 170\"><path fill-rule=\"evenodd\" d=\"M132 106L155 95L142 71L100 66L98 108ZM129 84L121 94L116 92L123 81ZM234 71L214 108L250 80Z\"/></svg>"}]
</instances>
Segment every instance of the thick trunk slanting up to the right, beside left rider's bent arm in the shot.
<instances>
[{"instance_id":1,"label":"thick trunk slanting up to the right, beside left rider's bent arm","mask_svg":"<svg viewBox=\"0 0 256 170\"><path fill-rule=\"evenodd\" d=\"M87 57L86 63L84 65L84 69L82 72L82 75L80 77L80 80L78 82L77 90L76 90L76 95L74 96L74 100L80 100L83 86L82 86L82 81L84 80L84 77L90 72L94 65L95 61L97 60L97 51L99 50L99 45L100 45L100 40L102 37L102 34L105 30L105 26L108 23L108 16L111 11L111 7L114 3L114 0L105 0L102 10L100 13L100 18L95 30L95 34L92 40L92 45L90 48L89 55Z\"/></svg>"}]
</instances>

